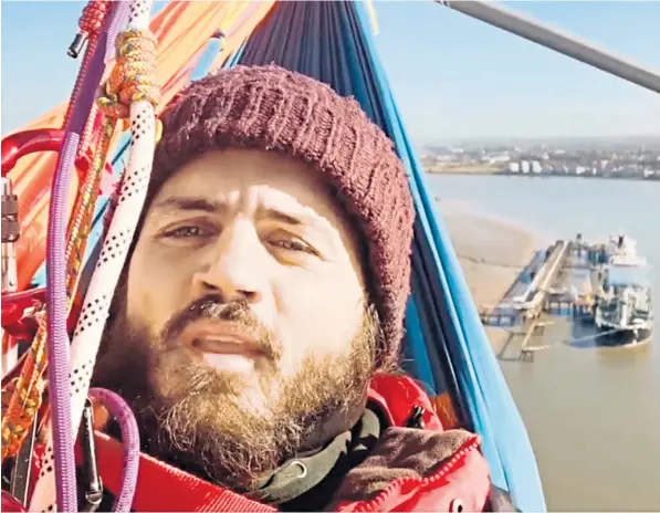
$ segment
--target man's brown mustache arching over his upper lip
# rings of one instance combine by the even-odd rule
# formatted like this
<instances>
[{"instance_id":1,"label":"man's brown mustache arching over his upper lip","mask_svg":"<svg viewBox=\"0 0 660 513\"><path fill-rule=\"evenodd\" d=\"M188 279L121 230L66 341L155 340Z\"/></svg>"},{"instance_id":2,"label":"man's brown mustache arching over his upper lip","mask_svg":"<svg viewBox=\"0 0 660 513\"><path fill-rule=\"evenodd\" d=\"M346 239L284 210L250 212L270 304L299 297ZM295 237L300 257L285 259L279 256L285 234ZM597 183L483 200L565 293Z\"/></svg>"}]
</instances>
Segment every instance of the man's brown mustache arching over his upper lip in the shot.
<instances>
[{"instance_id":1,"label":"man's brown mustache arching over his upper lip","mask_svg":"<svg viewBox=\"0 0 660 513\"><path fill-rule=\"evenodd\" d=\"M206 295L193 301L181 312L171 316L161 333L166 346L175 346L177 338L192 323L200 320L231 322L239 325L254 339L258 348L270 359L282 355L282 347L273 333L252 313L244 300L226 302L220 295Z\"/></svg>"}]
</instances>

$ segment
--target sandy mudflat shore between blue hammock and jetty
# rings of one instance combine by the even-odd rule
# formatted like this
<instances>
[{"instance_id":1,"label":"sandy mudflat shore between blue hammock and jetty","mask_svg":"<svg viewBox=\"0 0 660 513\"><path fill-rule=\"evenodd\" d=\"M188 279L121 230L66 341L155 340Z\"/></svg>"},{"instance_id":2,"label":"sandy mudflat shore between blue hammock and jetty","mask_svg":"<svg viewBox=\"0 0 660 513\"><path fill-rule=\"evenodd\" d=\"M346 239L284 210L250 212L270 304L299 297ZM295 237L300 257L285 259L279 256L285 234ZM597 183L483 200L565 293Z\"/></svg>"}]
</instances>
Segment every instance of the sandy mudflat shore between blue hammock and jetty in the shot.
<instances>
[{"instance_id":1,"label":"sandy mudflat shore between blue hammock and jetty","mask_svg":"<svg viewBox=\"0 0 660 513\"><path fill-rule=\"evenodd\" d=\"M479 212L467 203L439 201L454 250L476 306L497 304L535 251L549 241L515 223ZM506 331L486 326L495 352Z\"/></svg>"}]
</instances>

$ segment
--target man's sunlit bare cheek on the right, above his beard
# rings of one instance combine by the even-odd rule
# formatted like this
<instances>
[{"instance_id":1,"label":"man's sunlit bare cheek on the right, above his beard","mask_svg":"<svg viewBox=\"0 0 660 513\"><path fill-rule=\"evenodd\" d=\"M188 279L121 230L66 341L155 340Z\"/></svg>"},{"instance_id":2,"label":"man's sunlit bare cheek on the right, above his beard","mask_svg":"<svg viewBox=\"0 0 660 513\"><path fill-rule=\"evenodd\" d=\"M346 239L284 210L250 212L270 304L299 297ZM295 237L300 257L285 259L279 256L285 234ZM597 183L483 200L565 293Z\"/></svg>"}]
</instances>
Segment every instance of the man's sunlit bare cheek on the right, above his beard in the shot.
<instances>
[{"instance_id":1,"label":"man's sunlit bare cheek on the right, above his beard","mask_svg":"<svg viewBox=\"0 0 660 513\"><path fill-rule=\"evenodd\" d=\"M273 286L286 360L344 354L362 325L364 291L352 270L283 276Z\"/></svg>"}]
</instances>

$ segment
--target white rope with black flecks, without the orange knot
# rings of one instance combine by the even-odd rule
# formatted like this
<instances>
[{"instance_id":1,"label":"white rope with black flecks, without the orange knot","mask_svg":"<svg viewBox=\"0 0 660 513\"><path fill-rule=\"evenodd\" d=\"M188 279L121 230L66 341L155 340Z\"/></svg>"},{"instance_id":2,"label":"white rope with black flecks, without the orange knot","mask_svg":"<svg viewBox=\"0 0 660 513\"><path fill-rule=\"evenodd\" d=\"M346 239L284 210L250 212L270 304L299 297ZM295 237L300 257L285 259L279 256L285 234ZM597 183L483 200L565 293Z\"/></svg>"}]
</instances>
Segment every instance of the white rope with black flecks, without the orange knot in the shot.
<instances>
[{"instance_id":1,"label":"white rope with black flecks, without the orange knot","mask_svg":"<svg viewBox=\"0 0 660 513\"><path fill-rule=\"evenodd\" d=\"M153 0L133 0L128 29L149 29ZM117 207L108 228L98 262L92 275L71 346L71 415L74 437L90 389L92 370L108 310L119 274L142 212L154 159L156 116L147 101L130 105L130 156ZM52 430L48 430L46 452L39 474L30 511L55 511L55 473L53 464Z\"/></svg>"}]
</instances>

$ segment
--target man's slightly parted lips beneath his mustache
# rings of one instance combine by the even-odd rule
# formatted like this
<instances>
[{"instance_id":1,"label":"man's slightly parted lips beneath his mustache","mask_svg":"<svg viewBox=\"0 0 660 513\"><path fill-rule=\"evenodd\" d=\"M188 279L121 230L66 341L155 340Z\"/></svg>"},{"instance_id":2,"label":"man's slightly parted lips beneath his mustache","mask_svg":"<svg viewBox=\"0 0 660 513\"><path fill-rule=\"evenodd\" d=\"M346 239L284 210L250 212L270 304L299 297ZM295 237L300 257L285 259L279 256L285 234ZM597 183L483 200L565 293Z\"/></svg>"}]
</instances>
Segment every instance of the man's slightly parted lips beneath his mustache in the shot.
<instances>
[{"instance_id":1,"label":"man's slightly parted lips beneath his mustache","mask_svg":"<svg viewBox=\"0 0 660 513\"><path fill-rule=\"evenodd\" d=\"M264 350L243 326L227 321L195 322L181 334L182 344L200 353L264 356Z\"/></svg>"}]
</instances>

